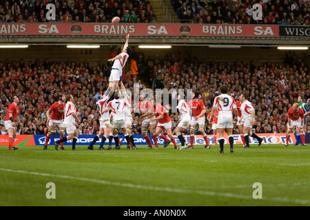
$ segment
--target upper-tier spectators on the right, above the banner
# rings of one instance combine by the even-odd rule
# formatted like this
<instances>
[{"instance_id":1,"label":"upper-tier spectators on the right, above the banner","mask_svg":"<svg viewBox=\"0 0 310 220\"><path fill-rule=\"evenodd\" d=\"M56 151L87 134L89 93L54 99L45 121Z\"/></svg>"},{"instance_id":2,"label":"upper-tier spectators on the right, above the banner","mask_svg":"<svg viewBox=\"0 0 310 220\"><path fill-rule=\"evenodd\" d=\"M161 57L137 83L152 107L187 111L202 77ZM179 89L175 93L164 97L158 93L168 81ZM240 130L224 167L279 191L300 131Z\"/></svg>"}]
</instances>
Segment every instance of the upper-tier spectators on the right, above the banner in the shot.
<instances>
[{"instance_id":1,"label":"upper-tier spectators on the right, above the banner","mask_svg":"<svg viewBox=\"0 0 310 220\"><path fill-rule=\"evenodd\" d=\"M254 5L261 5L261 19ZM309 0L172 0L181 23L310 25Z\"/></svg>"}]
</instances>

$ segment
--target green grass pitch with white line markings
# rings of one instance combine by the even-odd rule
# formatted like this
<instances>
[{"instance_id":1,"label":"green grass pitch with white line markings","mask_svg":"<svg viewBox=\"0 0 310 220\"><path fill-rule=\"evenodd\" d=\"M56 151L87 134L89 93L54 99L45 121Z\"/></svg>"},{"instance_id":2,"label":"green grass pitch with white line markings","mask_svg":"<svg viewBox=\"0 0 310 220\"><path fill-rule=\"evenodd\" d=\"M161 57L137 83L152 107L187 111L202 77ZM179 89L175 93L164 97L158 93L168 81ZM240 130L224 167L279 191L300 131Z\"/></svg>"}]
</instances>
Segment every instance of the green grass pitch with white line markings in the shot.
<instances>
[{"instance_id":1,"label":"green grass pitch with white line markings","mask_svg":"<svg viewBox=\"0 0 310 220\"><path fill-rule=\"evenodd\" d=\"M309 206L308 146L0 146L0 206ZM46 197L54 183L55 199ZM262 199L254 199L260 183Z\"/></svg>"}]
</instances>

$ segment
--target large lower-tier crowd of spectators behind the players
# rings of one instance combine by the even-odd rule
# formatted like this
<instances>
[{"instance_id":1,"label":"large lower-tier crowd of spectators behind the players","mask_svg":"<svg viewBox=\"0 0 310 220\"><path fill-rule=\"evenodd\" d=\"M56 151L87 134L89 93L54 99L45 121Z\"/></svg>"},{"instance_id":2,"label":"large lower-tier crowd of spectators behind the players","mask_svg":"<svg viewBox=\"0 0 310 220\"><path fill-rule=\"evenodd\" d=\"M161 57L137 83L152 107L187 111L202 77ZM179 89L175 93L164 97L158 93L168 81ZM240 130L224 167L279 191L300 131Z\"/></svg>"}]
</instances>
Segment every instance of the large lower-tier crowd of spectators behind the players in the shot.
<instances>
[{"instance_id":1,"label":"large lower-tier crowd of spectators behind the players","mask_svg":"<svg viewBox=\"0 0 310 220\"><path fill-rule=\"evenodd\" d=\"M257 63L254 61L228 61L203 63L189 54L168 52L164 57L145 56L142 50L133 49L123 73L123 82L134 94L134 83L141 89L193 89L199 91L207 113L211 111L218 89L225 84L229 94L236 100L241 92L249 94L249 101L256 109L256 133L283 133L287 131L287 111L298 96L310 106L309 56L287 54L283 63ZM110 51L113 56L114 50ZM133 62L134 61L134 62ZM132 74L130 67L136 63L138 72ZM21 123L17 134L44 134L47 129L45 112L57 101L59 94L73 94L77 111L81 114L78 129L81 134L96 134L99 131L99 113L94 95L107 89L111 63L99 61L96 65L85 61L50 61L48 58L35 61L0 61L0 130L12 96L17 94ZM133 98L133 107L134 103ZM134 118L132 133L141 132L139 113ZM171 113L172 126L180 118ZM211 125L205 124L211 134ZM237 126L234 133L239 133ZM185 133L187 131L185 130ZM307 118L307 133L310 133L310 118Z\"/></svg>"}]
</instances>

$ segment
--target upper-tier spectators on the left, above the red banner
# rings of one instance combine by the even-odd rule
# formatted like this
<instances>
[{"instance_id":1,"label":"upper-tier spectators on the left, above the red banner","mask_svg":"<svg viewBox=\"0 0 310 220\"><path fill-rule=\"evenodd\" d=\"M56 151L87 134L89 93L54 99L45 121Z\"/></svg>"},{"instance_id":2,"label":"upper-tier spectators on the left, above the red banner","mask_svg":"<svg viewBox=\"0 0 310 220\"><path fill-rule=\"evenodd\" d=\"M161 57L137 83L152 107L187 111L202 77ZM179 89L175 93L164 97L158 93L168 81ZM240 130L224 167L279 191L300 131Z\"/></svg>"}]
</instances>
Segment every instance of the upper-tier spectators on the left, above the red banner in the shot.
<instances>
[{"instance_id":1,"label":"upper-tier spectators on the left, above the red banner","mask_svg":"<svg viewBox=\"0 0 310 220\"><path fill-rule=\"evenodd\" d=\"M48 19L46 5L55 5L56 17ZM50 14L48 14L50 15ZM1 0L0 23L57 22L107 23L120 17L121 23L156 23L147 0Z\"/></svg>"}]
</instances>

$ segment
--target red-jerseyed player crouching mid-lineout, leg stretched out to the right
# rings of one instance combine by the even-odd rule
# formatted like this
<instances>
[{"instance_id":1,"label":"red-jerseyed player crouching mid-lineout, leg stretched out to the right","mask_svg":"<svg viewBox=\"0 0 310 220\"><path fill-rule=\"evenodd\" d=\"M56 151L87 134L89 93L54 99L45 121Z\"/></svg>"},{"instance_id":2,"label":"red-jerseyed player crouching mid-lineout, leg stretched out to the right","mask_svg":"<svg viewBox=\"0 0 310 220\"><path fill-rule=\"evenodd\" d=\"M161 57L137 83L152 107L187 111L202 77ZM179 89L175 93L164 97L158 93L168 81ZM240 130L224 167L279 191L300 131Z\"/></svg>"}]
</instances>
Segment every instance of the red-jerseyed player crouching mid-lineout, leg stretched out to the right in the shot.
<instances>
[{"instance_id":1,"label":"red-jerseyed player crouching mid-lineout, leg stretched out to the right","mask_svg":"<svg viewBox=\"0 0 310 220\"><path fill-rule=\"evenodd\" d=\"M172 136L172 124L171 124L171 118L168 113L168 108L169 108L168 105L165 108L161 104L158 104L156 106L155 111L156 118L154 118L154 120L158 121L158 123L156 126L155 135L165 140L164 147L167 147L172 142L174 144L174 148L177 149L178 146L176 145L176 140L174 140L174 137ZM164 129L166 130L169 138L163 135L162 131ZM158 146L156 146L156 148L158 148Z\"/></svg>"}]
</instances>

